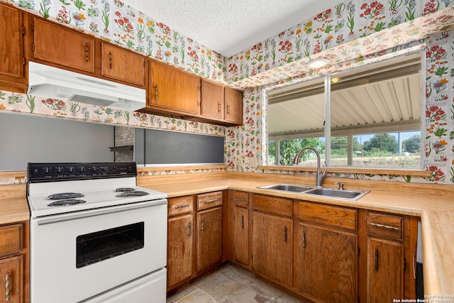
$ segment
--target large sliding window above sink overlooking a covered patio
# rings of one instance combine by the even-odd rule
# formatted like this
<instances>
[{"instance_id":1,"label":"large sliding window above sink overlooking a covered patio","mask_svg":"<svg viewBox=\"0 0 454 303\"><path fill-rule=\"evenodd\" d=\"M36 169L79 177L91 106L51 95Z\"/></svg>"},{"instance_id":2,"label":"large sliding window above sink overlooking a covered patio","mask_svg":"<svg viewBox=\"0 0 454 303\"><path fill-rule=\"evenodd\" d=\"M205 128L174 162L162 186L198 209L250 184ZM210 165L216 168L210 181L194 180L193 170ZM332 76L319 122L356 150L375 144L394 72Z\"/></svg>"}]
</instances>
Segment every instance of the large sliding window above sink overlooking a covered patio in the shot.
<instances>
[{"instance_id":1,"label":"large sliding window above sink overlooking a covered patio","mask_svg":"<svg viewBox=\"0 0 454 303\"><path fill-rule=\"evenodd\" d=\"M311 146L330 166L422 169L422 65L413 53L268 92L267 164Z\"/></svg>"}]
</instances>

